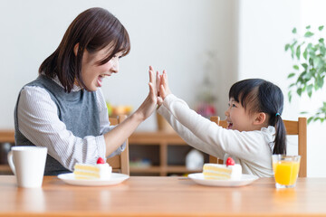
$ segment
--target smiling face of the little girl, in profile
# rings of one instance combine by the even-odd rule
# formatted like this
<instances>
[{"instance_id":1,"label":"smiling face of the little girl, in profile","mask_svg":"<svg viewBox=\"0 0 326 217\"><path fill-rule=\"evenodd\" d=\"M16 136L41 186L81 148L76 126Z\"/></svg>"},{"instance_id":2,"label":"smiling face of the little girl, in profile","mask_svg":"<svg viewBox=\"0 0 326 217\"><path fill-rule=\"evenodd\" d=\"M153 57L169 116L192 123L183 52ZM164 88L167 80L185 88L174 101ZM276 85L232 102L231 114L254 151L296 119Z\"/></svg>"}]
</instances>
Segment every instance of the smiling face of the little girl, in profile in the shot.
<instances>
[{"instance_id":1,"label":"smiling face of the little girl, in profile","mask_svg":"<svg viewBox=\"0 0 326 217\"><path fill-rule=\"evenodd\" d=\"M227 128L239 131L252 131L255 129L254 117L246 112L241 103L231 98L228 103L228 109L225 111Z\"/></svg>"}]
</instances>

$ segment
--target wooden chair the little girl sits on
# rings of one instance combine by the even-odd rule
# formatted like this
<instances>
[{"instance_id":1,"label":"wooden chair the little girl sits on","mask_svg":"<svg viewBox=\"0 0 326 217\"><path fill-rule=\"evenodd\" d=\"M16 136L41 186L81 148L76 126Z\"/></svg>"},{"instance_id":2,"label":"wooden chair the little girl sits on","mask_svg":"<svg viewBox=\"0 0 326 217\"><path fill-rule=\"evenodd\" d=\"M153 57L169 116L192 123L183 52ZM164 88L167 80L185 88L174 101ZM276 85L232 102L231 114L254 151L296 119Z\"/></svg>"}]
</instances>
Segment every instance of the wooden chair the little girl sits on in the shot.
<instances>
[{"instance_id":1,"label":"wooden chair the little girl sits on","mask_svg":"<svg viewBox=\"0 0 326 217\"><path fill-rule=\"evenodd\" d=\"M216 122L221 127L227 127L225 120L213 116L211 121ZM299 177L307 177L307 118L298 118L298 120L283 120L287 135L298 136L298 155L302 156L300 161ZM215 156L209 156L209 162L214 164L223 164L223 160Z\"/></svg>"}]
</instances>

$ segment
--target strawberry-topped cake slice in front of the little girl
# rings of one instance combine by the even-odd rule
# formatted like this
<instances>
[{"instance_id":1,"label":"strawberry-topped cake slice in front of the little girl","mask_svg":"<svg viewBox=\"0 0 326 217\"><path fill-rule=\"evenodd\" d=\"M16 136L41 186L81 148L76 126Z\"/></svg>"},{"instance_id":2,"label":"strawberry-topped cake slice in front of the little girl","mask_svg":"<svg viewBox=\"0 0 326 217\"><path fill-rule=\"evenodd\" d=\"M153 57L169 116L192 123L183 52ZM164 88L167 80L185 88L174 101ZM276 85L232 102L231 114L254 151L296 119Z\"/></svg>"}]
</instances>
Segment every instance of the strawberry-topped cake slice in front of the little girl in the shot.
<instances>
[{"instance_id":1,"label":"strawberry-topped cake slice in front of the little girl","mask_svg":"<svg viewBox=\"0 0 326 217\"><path fill-rule=\"evenodd\" d=\"M226 165L205 164L203 174L205 179L240 180L242 167L241 165L235 164L234 159L228 157Z\"/></svg>"}]
</instances>

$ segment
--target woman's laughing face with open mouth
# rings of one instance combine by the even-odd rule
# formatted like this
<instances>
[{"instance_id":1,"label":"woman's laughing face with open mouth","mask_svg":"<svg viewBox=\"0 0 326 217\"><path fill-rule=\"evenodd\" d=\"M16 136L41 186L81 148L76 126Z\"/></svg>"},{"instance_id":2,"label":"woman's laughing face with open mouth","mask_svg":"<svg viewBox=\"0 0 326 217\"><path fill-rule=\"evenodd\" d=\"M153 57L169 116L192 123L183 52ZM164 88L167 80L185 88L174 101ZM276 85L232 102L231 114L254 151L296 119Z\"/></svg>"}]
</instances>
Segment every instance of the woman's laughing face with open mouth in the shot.
<instances>
[{"instance_id":1,"label":"woman's laughing face with open mouth","mask_svg":"<svg viewBox=\"0 0 326 217\"><path fill-rule=\"evenodd\" d=\"M87 50L82 57L82 80L90 91L96 91L102 86L105 77L111 76L112 73L119 71L119 59L122 52L116 53L110 61L103 65L98 62L104 59L110 52L110 47L104 48L99 52L90 53Z\"/></svg>"}]
</instances>

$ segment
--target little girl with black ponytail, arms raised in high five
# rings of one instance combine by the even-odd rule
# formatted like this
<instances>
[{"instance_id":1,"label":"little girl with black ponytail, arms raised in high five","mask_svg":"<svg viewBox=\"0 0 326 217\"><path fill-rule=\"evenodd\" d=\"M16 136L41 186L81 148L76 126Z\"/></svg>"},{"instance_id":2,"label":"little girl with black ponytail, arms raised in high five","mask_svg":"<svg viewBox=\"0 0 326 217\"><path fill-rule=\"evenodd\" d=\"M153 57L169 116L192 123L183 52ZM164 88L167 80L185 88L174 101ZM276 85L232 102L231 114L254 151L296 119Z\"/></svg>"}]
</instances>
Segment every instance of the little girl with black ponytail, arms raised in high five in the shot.
<instances>
[{"instance_id":1,"label":"little girl with black ponytail, arms raised in high five","mask_svg":"<svg viewBox=\"0 0 326 217\"><path fill-rule=\"evenodd\" d=\"M157 82L160 82L158 113L187 144L218 158L232 156L242 165L244 174L273 176L272 154L286 152L280 88L260 79L236 82L229 91L225 129L201 117L185 101L171 94L165 71Z\"/></svg>"}]
</instances>

